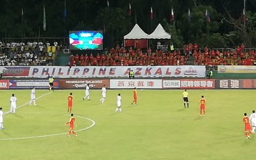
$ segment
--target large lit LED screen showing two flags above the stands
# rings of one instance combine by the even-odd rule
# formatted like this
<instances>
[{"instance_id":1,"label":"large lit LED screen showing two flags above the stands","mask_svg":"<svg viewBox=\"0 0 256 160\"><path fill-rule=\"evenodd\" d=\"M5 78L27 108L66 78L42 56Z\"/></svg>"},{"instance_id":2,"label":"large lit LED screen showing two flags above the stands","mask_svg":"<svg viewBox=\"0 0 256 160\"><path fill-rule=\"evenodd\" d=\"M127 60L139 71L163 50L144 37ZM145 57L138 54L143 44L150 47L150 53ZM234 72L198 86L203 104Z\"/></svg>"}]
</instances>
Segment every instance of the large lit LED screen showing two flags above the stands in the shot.
<instances>
[{"instance_id":1,"label":"large lit LED screen showing two flags above the stands","mask_svg":"<svg viewBox=\"0 0 256 160\"><path fill-rule=\"evenodd\" d=\"M70 50L102 50L102 31L69 31Z\"/></svg>"}]
</instances>

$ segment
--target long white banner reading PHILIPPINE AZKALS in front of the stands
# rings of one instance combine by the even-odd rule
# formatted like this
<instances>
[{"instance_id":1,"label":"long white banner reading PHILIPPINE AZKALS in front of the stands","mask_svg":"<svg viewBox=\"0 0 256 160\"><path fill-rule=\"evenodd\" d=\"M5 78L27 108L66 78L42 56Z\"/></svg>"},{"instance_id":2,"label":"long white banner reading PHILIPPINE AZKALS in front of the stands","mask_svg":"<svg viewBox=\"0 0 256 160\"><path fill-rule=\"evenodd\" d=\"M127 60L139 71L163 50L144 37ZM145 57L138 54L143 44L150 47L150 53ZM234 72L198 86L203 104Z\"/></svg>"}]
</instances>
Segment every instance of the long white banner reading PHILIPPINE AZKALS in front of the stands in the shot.
<instances>
[{"instance_id":1,"label":"long white banner reading PHILIPPINE AZKALS in front of the stands","mask_svg":"<svg viewBox=\"0 0 256 160\"><path fill-rule=\"evenodd\" d=\"M131 70L137 77L205 77L205 66L0 66L7 78L128 77Z\"/></svg>"}]
</instances>

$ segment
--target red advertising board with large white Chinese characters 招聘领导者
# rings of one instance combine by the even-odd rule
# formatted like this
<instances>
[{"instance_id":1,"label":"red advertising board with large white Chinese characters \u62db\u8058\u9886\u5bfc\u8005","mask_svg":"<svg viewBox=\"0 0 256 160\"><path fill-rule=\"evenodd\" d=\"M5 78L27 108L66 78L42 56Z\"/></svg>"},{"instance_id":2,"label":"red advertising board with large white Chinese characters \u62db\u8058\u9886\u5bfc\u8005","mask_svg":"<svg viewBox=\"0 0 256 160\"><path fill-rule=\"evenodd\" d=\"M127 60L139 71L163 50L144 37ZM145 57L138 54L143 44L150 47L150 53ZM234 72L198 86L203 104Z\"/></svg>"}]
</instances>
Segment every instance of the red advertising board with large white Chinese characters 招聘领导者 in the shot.
<instances>
[{"instance_id":1,"label":"red advertising board with large white Chinese characters \u62db\u8058\u9886\u5bfc\u8005","mask_svg":"<svg viewBox=\"0 0 256 160\"><path fill-rule=\"evenodd\" d=\"M214 79L184 79L180 81L181 89L214 89Z\"/></svg>"}]
</instances>

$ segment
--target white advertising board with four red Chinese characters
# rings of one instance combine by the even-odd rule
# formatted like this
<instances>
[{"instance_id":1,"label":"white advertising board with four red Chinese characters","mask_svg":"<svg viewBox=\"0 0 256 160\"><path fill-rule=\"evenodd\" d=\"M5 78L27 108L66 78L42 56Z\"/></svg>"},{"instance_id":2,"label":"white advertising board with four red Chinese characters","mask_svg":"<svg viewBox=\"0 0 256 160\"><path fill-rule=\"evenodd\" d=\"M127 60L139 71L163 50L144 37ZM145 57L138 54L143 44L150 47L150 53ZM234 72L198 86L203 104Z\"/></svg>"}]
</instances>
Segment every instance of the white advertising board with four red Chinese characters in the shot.
<instances>
[{"instance_id":1,"label":"white advertising board with four red Chinese characters","mask_svg":"<svg viewBox=\"0 0 256 160\"><path fill-rule=\"evenodd\" d=\"M162 89L162 79L110 79L110 89Z\"/></svg>"}]
</instances>

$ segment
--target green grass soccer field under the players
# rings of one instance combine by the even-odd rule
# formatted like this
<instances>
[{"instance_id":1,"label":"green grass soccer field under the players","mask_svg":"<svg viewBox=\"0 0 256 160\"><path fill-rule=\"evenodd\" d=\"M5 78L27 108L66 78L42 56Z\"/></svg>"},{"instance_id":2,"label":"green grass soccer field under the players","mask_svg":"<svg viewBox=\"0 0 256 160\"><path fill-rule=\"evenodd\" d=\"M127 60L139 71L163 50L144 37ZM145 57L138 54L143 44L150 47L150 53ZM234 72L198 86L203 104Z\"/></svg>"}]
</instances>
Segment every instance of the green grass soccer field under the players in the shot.
<instances>
[{"instance_id":1,"label":"green grass soccer field under the players","mask_svg":"<svg viewBox=\"0 0 256 160\"><path fill-rule=\"evenodd\" d=\"M11 94L20 106L4 115L0 130L0 159L244 159L253 158L255 135L244 136L243 114L256 110L256 90L1 90L1 107L9 111ZM67 96L73 93L72 113L78 137L67 138L70 118ZM115 113L117 94L123 113ZM199 116L199 99L207 100L206 116ZM94 124L95 122L95 124Z\"/></svg>"}]
</instances>

